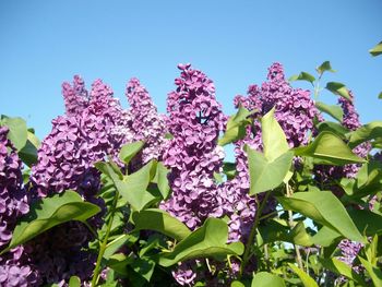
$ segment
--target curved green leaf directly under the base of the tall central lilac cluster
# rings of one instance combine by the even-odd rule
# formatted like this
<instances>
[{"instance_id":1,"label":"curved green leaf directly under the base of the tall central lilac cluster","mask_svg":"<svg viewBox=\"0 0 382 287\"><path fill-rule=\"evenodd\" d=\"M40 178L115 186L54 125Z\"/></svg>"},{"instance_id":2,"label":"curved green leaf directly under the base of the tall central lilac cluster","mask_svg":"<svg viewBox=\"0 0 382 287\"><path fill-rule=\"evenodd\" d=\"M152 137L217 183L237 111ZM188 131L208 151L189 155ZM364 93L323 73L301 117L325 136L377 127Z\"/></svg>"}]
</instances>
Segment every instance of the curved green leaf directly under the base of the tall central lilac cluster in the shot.
<instances>
[{"instance_id":1,"label":"curved green leaf directly under the base of the tall central lilac cluster","mask_svg":"<svg viewBox=\"0 0 382 287\"><path fill-rule=\"evenodd\" d=\"M132 219L136 230L155 230L179 241L191 234L191 230L183 223L157 208L134 212Z\"/></svg>"}]
</instances>

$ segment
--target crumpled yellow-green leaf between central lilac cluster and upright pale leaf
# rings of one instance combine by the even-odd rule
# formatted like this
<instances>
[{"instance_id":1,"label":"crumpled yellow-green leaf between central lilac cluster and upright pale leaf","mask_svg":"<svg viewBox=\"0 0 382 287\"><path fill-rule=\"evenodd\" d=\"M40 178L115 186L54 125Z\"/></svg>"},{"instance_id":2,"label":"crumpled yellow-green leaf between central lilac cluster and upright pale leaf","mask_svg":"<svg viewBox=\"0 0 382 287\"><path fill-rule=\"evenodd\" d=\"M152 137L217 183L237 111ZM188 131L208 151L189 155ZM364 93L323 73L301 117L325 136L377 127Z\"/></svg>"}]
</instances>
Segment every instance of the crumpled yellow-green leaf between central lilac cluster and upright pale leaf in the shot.
<instances>
[{"instance_id":1,"label":"crumpled yellow-green leaf between central lilac cluster and upright pale leaf","mask_svg":"<svg viewBox=\"0 0 382 287\"><path fill-rule=\"evenodd\" d=\"M227 122L226 132L223 137L218 140L218 144L224 146L226 144L241 140L246 135L246 127L251 123L251 120L247 119L255 111L249 111L243 107L239 107L239 110L229 117Z\"/></svg>"}]
</instances>

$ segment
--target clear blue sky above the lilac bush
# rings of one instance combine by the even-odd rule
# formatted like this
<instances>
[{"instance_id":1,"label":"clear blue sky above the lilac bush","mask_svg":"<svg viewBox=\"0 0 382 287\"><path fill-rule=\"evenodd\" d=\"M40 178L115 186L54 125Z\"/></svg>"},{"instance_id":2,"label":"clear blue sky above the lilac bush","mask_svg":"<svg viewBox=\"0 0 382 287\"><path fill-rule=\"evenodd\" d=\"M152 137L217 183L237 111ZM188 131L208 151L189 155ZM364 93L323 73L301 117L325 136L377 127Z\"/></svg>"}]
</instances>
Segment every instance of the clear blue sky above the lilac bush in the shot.
<instances>
[{"instance_id":1,"label":"clear blue sky above the lilac bush","mask_svg":"<svg viewBox=\"0 0 382 287\"><path fill-rule=\"evenodd\" d=\"M382 119L381 0L0 1L0 113L21 116L41 137L63 112L61 83L103 79L126 105L138 76L162 112L179 62L191 62L232 98L279 61L288 76L331 60L324 80L347 84L363 122ZM298 86L308 87L302 83ZM334 96L323 95L334 100Z\"/></svg>"}]
</instances>

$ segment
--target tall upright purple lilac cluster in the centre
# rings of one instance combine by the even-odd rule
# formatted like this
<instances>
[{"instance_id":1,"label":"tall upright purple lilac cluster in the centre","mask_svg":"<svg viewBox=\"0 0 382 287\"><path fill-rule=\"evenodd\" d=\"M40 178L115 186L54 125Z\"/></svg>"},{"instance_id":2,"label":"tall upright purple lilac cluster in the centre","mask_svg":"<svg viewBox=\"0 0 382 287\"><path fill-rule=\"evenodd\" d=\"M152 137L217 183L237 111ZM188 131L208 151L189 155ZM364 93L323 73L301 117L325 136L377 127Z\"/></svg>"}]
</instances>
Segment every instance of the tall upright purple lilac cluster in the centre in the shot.
<instances>
[{"instance_id":1,"label":"tall upright purple lilac cluster in the centre","mask_svg":"<svg viewBox=\"0 0 382 287\"><path fill-rule=\"evenodd\" d=\"M224 152L216 140L225 117L215 98L213 82L190 64L179 64L177 89L168 95L167 127L174 139L164 153L171 198L162 207L191 229L208 216L223 215L214 172L222 167Z\"/></svg>"}]
</instances>

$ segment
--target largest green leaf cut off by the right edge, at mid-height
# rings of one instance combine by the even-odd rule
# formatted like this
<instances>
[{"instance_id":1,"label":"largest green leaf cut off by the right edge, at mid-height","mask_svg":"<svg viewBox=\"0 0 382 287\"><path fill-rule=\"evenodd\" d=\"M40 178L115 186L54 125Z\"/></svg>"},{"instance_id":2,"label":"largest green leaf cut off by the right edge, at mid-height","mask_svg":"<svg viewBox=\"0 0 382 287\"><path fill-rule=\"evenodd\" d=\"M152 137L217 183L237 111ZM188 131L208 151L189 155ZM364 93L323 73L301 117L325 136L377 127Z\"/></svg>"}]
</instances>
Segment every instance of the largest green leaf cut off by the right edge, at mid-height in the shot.
<instances>
[{"instance_id":1,"label":"largest green leaf cut off by the right edge, at mid-height","mask_svg":"<svg viewBox=\"0 0 382 287\"><path fill-rule=\"evenodd\" d=\"M372 121L372 122L369 122L368 124L365 124L358 128L357 130L348 134L349 146L354 148L363 142L374 140L381 136L382 136L382 121Z\"/></svg>"}]
</instances>

